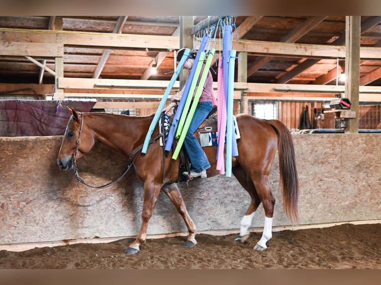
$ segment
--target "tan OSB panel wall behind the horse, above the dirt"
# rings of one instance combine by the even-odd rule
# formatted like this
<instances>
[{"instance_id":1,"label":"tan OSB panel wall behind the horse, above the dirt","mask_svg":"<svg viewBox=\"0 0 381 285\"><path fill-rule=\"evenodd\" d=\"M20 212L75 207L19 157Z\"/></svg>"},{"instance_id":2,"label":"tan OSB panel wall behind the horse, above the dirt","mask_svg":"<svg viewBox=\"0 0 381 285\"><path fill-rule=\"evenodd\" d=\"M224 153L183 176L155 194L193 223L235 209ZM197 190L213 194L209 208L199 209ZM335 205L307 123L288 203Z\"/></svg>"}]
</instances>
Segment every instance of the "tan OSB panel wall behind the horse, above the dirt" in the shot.
<instances>
[{"instance_id":1,"label":"tan OSB panel wall behind the horse, above the dirt","mask_svg":"<svg viewBox=\"0 0 381 285\"><path fill-rule=\"evenodd\" d=\"M378 134L294 135L300 179L299 224L381 219L381 152ZM56 158L62 137L0 138L0 244L138 234L143 183L132 171L106 189L77 182ZM255 153L255 147L253 147ZM277 200L274 225L289 225L283 212L278 157L271 174ZM127 165L123 155L97 145L78 161L80 175L103 185ZM222 175L180 183L198 230L238 229L250 203L235 178ZM252 224L262 227L260 207ZM148 234L183 232L186 226L161 193Z\"/></svg>"}]
</instances>

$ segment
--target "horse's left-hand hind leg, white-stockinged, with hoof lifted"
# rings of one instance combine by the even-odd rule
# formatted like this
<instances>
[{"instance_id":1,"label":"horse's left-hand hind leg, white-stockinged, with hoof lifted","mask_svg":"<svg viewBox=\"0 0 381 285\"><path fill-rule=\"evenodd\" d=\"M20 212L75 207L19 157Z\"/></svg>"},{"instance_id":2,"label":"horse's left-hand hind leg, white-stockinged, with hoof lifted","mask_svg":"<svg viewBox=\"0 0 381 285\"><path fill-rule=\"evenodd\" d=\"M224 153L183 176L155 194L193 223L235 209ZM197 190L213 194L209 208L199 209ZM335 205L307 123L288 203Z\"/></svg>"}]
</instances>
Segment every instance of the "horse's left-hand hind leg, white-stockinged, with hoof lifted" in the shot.
<instances>
[{"instance_id":1,"label":"horse's left-hand hind leg, white-stockinged, with hoof lifted","mask_svg":"<svg viewBox=\"0 0 381 285\"><path fill-rule=\"evenodd\" d=\"M245 243L250 235L249 227L253 223L254 213L257 211L259 205L261 204L261 199L257 194L254 183L251 180L250 176L240 165L234 167L232 172L241 186L249 193L251 197L249 208L247 209L240 222L240 240L241 243Z\"/></svg>"}]
</instances>

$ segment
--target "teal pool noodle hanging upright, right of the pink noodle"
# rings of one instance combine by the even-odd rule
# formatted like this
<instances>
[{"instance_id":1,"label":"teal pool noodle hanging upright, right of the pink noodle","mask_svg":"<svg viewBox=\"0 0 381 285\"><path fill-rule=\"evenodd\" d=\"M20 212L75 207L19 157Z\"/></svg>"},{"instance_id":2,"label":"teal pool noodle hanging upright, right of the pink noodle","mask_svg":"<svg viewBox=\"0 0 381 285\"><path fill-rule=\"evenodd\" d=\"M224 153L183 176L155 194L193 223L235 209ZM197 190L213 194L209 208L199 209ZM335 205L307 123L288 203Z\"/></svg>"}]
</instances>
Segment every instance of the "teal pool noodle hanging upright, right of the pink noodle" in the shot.
<instances>
[{"instance_id":1,"label":"teal pool noodle hanging upright, right of the pink noodle","mask_svg":"<svg viewBox=\"0 0 381 285\"><path fill-rule=\"evenodd\" d=\"M232 156L238 154L233 153L233 141L236 143L235 135L233 136L233 95L234 95L234 63L236 51L231 50L229 58L229 90L227 100L227 122L226 122L226 176L231 177ZM238 152L235 145L235 152Z\"/></svg>"}]
</instances>

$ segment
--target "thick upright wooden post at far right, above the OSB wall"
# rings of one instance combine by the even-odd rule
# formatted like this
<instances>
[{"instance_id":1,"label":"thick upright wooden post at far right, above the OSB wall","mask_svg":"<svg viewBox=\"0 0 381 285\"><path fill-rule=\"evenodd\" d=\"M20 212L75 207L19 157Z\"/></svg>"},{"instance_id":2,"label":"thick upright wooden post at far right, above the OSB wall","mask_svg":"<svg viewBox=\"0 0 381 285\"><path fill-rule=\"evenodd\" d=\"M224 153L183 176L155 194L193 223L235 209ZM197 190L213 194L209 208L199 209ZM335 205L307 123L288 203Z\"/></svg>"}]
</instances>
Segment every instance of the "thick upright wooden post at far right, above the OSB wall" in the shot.
<instances>
[{"instance_id":1,"label":"thick upright wooden post at far right, above the OSB wall","mask_svg":"<svg viewBox=\"0 0 381 285\"><path fill-rule=\"evenodd\" d=\"M359 133L359 85L360 85L360 30L361 16L345 18L345 97L351 101L351 111L356 118L347 119L345 133Z\"/></svg>"}]
</instances>

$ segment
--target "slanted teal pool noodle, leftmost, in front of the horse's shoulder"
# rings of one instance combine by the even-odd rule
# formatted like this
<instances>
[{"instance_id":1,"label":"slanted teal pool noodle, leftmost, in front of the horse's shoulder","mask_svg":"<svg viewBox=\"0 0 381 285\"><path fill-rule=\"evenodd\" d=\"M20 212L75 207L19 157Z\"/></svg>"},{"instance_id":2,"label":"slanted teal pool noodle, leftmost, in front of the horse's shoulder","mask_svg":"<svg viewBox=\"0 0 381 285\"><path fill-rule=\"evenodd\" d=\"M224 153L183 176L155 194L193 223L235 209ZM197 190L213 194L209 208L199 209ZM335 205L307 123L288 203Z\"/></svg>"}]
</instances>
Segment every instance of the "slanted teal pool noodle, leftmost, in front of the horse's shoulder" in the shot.
<instances>
[{"instance_id":1,"label":"slanted teal pool noodle, leftmost, in front of the horse's shoulder","mask_svg":"<svg viewBox=\"0 0 381 285\"><path fill-rule=\"evenodd\" d=\"M190 53L191 53L191 50L186 48L185 51L184 51L183 57L181 58L181 60L179 62L179 65L176 68L176 71L172 75L171 81L169 82L169 84L167 86L167 89L164 92L163 98L161 99L161 101L159 103L159 107L158 107L158 109L157 109L157 111L155 113L155 116L152 119L151 125L150 125L150 127L148 129L146 138L145 138L144 143L143 143L142 153L146 153L147 152L148 144L149 144L149 142L151 140L152 133L154 132L154 130L156 128L156 125L157 125L157 123L159 121L159 118L161 116L161 113L162 113L161 111L163 110L163 108L164 108L164 106L165 106L165 104L167 102L169 93L171 92L172 87L175 84L175 81L176 81L177 77L179 76L180 71L183 69L183 66L184 66L185 62L187 61L188 56L189 56Z\"/></svg>"}]
</instances>

